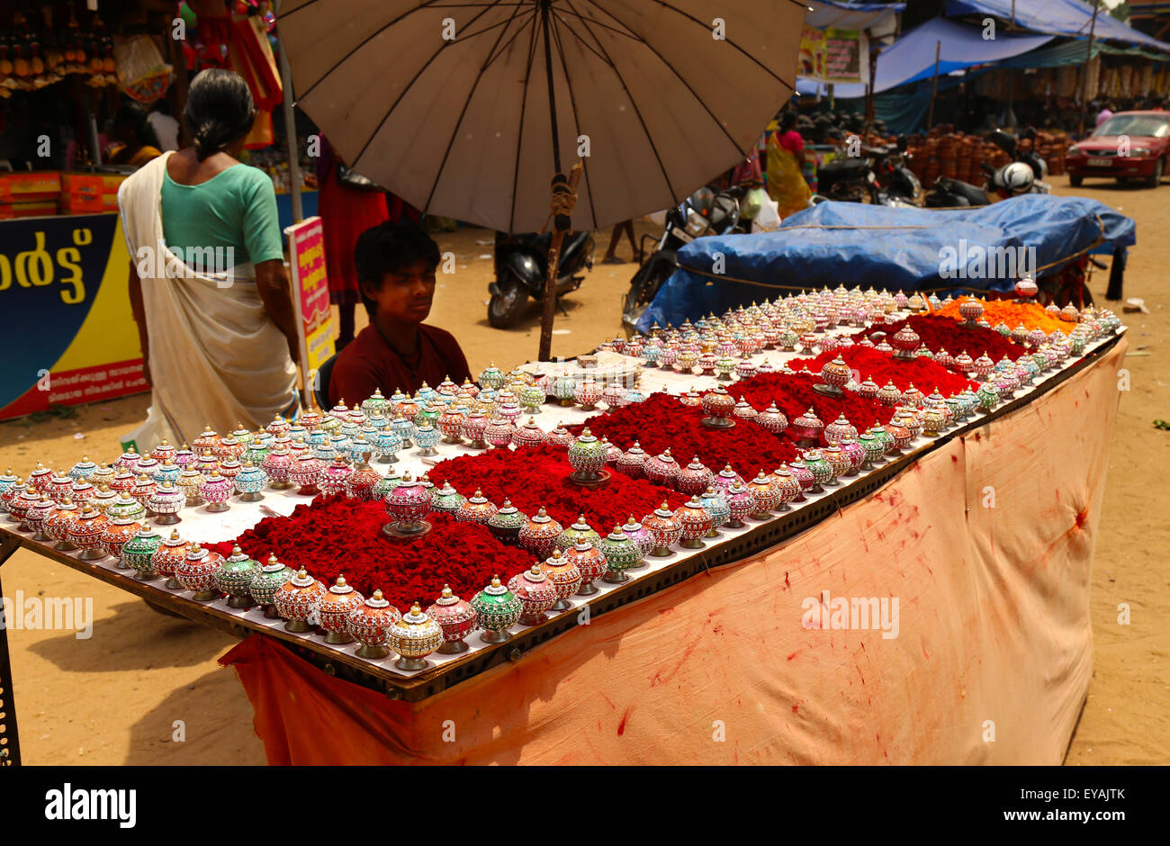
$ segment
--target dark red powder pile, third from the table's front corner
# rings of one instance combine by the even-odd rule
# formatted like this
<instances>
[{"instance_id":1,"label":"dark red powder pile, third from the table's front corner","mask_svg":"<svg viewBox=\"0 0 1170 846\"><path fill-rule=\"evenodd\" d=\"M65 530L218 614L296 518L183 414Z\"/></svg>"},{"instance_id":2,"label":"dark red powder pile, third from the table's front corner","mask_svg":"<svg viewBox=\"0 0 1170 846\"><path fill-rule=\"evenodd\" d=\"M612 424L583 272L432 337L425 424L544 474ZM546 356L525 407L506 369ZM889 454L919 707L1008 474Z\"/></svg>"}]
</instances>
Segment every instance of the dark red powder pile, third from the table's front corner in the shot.
<instances>
[{"instance_id":1,"label":"dark red powder pile, third from the table's front corner","mask_svg":"<svg viewBox=\"0 0 1170 846\"><path fill-rule=\"evenodd\" d=\"M729 390L735 394L735 385ZM765 406L766 403L757 411ZM791 443L755 424L739 421L732 428L715 429L703 426L702 419L702 408L684 406L677 397L653 393L644 403L598 414L569 431L579 434L589 426L594 435L604 435L622 449L638 441L649 455L669 449L682 466L697 455L716 473L731 465L744 477L760 469L771 473L797 456Z\"/></svg>"}]
</instances>

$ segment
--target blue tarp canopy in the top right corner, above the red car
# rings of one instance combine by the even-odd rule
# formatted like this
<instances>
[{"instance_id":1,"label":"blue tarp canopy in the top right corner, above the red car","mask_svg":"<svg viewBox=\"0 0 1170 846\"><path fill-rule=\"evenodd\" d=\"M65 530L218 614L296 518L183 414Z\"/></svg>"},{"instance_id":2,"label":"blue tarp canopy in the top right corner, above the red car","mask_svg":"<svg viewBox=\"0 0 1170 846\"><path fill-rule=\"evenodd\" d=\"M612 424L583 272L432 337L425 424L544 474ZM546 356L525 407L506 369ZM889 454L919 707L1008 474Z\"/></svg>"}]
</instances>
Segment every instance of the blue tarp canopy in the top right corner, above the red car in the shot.
<instances>
[{"instance_id":1,"label":"blue tarp canopy in the top right corner, above the red car","mask_svg":"<svg viewBox=\"0 0 1170 846\"><path fill-rule=\"evenodd\" d=\"M1005 21L1013 20L1013 9L1016 25L1034 33L1087 39L1093 27L1094 37L1170 53L1170 44L1126 26L1106 8L1097 13L1093 26L1093 7L1081 0L948 0L947 4L948 15L992 15ZM997 33L996 37L1003 36Z\"/></svg>"}]
</instances>

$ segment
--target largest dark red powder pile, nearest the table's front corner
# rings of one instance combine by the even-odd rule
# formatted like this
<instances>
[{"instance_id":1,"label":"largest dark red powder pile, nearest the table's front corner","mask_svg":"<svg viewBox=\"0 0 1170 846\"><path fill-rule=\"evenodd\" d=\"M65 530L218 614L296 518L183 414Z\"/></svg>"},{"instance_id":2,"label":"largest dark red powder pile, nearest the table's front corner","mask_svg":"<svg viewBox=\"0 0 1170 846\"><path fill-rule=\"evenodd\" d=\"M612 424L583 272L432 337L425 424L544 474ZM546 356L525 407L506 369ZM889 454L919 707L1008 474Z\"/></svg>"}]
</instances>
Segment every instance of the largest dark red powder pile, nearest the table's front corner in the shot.
<instances>
[{"instance_id":1,"label":"largest dark red powder pile, nearest the table's front corner","mask_svg":"<svg viewBox=\"0 0 1170 846\"><path fill-rule=\"evenodd\" d=\"M402 612L414 601L427 607L445 584L470 599L494 575L507 583L532 566L529 552L500 543L486 527L443 514L427 521L434 527L428 535L392 539L381 534L390 517L380 502L336 495L297 505L289 517L267 517L234 543L261 564L275 555L294 570L304 568L326 587L344 575L366 597L381 590ZM232 543L208 548L232 553Z\"/></svg>"}]
</instances>

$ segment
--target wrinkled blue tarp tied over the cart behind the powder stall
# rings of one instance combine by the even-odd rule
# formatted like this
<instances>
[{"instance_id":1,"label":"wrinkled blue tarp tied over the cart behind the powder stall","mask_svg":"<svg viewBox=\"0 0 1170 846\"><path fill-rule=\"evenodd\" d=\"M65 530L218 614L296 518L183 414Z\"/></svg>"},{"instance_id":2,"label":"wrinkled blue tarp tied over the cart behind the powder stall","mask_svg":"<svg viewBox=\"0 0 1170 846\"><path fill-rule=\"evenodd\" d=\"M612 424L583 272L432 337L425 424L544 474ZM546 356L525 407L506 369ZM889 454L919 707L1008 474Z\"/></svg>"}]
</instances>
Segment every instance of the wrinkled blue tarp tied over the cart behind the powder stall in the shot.
<instances>
[{"instance_id":1,"label":"wrinkled blue tarp tied over the cart behind the powder stall","mask_svg":"<svg viewBox=\"0 0 1170 846\"><path fill-rule=\"evenodd\" d=\"M1134 242L1131 219L1083 197L1024 194L955 211L821 202L776 232L688 243L638 329L722 314L792 289L1009 290L1024 271L1045 276L1099 243L1119 249Z\"/></svg>"}]
</instances>

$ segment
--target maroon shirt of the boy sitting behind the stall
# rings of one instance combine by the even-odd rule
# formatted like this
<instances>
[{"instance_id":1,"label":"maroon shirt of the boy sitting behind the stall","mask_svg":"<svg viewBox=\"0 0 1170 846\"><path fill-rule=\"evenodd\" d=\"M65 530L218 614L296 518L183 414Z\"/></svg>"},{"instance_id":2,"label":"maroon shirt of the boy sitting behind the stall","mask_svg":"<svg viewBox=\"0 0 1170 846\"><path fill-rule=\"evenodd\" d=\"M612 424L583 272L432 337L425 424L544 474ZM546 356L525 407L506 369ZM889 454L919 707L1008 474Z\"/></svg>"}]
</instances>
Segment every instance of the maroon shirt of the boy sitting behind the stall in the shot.
<instances>
[{"instance_id":1,"label":"maroon shirt of the boy sitting behind the stall","mask_svg":"<svg viewBox=\"0 0 1170 846\"><path fill-rule=\"evenodd\" d=\"M374 388L380 388L386 397L395 390L414 393L424 381L434 387L447 377L456 385L472 377L454 335L420 323L419 359L414 363L404 360L371 324L338 353L329 379L329 399L335 405L342 399L353 405L372 394Z\"/></svg>"}]
</instances>

